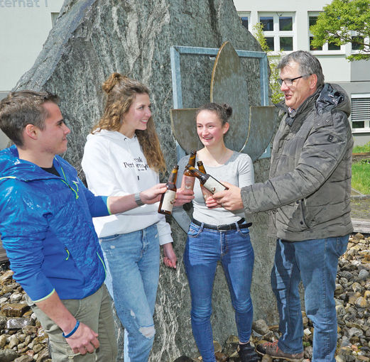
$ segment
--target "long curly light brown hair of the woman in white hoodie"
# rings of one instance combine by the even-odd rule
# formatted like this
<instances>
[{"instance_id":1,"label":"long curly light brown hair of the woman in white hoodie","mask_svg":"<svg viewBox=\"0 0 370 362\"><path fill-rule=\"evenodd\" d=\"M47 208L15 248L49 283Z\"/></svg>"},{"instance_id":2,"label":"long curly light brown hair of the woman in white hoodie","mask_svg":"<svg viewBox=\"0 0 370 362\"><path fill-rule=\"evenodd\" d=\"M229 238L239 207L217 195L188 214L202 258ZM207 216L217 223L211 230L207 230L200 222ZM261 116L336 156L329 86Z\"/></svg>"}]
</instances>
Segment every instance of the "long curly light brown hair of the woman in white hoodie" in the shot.
<instances>
[{"instance_id":1,"label":"long curly light brown hair of the woman in white hoodie","mask_svg":"<svg viewBox=\"0 0 370 362\"><path fill-rule=\"evenodd\" d=\"M112 73L103 83L102 89L107 93L107 103L105 104L104 114L99 123L92 128L92 133L99 132L102 129L119 131L124 115L129 111L136 94L149 95L149 89L144 84L119 73ZM136 130L135 133L148 166L156 172L164 173L165 159L160 149L153 117L151 116L148 119L146 130Z\"/></svg>"}]
</instances>

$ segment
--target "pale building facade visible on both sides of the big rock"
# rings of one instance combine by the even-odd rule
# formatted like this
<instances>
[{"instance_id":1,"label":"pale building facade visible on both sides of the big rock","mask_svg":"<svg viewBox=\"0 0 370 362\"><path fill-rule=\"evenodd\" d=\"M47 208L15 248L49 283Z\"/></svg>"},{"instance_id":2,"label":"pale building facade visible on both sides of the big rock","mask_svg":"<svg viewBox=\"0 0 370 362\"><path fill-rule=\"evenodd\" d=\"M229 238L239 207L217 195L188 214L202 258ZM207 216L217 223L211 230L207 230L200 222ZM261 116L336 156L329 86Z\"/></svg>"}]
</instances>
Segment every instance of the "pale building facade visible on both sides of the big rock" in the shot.
<instances>
[{"instance_id":1,"label":"pale building facade visible on both sides of the big rock","mask_svg":"<svg viewBox=\"0 0 370 362\"><path fill-rule=\"evenodd\" d=\"M349 62L356 52L351 44L310 49L309 27L330 0L234 0L244 25L262 22L271 50L311 50L327 82L339 83L352 98L352 131L355 143L370 141L370 61ZM0 0L0 99L13 89L40 53L58 17L63 0ZM6 146L0 131L0 149Z\"/></svg>"}]
</instances>

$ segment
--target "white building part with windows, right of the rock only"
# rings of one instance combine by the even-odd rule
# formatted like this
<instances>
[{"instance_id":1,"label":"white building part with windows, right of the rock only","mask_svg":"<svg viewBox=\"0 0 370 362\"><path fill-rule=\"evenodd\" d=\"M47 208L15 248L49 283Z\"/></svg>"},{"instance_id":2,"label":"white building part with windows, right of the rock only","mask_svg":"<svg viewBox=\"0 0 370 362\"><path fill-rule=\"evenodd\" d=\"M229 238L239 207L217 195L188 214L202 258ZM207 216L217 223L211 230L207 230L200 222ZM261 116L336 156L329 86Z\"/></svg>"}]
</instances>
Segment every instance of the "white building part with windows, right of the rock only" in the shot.
<instances>
[{"instance_id":1,"label":"white building part with windows, right of the rock only","mask_svg":"<svg viewBox=\"0 0 370 362\"><path fill-rule=\"evenodd\" d=\"M330 0L234 0L236 11L251 33L256 23L263 23L268 46L276 53L310 50L322 65L326 82L340 84L352 101L352 132L355 144L370 141L370 61L349 62L346 56L356 53L352 44L310 46L310 26Z\"/></svg>"}]
</instances>

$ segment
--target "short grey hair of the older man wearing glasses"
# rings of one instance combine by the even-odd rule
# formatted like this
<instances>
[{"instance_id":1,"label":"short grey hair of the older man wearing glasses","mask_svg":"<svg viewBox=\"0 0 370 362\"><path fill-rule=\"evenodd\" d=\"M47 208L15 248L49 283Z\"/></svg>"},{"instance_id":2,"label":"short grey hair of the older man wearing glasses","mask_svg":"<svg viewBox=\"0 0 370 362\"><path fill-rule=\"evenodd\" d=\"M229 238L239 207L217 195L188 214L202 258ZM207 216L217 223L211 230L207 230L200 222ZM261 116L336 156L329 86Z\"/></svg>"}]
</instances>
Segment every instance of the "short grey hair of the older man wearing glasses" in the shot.
<instances>
[{"instance_id":1,"label":"short grey hair of the older man wearing glasses","mask_svg":"<svg viewBox=\"0 0 370 362\"><path fill-rule=\"evenodd\" d=\"M324 85L325 77L317 57L305 50L298 50L281 58L280 62L278 62L278 69L283 69L283 67L286 67L292 61L300 65L299 69L301 75L308 77L309 75L315 74L317 75L317 87Z\"/></svg>"}]
</instances>

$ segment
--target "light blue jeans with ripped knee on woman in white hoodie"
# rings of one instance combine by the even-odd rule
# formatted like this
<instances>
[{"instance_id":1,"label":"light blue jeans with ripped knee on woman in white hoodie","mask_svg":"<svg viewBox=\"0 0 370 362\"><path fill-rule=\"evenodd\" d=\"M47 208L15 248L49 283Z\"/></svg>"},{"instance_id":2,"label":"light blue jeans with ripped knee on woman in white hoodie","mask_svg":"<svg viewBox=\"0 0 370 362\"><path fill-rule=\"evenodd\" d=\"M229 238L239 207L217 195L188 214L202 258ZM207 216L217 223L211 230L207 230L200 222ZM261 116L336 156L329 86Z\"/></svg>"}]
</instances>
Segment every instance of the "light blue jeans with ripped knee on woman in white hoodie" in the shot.
<instances>
[{"instance_id":1,"label":"light blue jeans with ripped knee on woman in white hoodie","mask_svg":"<svg viewBox=\"0 0 370 362\"><path fill-rule=\"evenodd\" d=\"M156 225L101 238L107 284L125 329L124 361L146 362L153 346L153 313L159 278Z\"/></svg>"}]
</instances>

